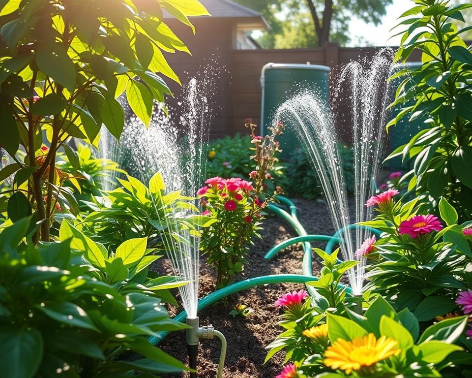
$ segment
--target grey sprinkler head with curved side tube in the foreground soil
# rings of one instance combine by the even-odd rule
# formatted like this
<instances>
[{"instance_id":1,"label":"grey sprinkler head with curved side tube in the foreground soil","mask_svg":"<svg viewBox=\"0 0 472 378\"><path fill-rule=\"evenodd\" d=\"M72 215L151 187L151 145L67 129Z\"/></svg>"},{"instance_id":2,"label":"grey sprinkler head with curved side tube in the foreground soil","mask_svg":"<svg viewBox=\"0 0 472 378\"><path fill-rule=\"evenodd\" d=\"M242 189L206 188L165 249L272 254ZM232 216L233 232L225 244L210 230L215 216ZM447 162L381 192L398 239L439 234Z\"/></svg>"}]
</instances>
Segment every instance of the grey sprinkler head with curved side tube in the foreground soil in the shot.
<instances>
[{"instance_id":1,"label":"grey sprinkler head with curved side tube in the foreground soil","mask_svg":"<svg viewBox=\"0 0 472 378\"><path fill-rule=\"evenodd\" d=\"M223 366L226 357L226 338L224 335L215 330L213 326L207 325L200 327L199 317L187 318L187 325L191 328L187 329L187 351L189 359L189 367L195 372L190 373L190 378L197 378L197 355L199 339L213 339L215 336L221 340L220 359L218 361L218 372L216 378L223 377Z\"/></svg>"}]
</instances>

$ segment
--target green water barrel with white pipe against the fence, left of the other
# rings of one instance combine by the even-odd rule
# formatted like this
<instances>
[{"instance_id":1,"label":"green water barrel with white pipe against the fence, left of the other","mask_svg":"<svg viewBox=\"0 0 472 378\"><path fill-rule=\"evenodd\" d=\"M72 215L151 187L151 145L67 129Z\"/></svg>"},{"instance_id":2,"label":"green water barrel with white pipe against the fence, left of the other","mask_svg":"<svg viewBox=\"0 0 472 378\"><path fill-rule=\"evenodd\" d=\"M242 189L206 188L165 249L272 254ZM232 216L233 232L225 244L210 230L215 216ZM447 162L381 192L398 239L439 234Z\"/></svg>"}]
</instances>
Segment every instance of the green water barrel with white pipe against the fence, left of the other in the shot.
<instances>
[{"instance_id":1,"label":"green water barrel with white pipe against the fence, left of the other","mask_svg":"<svg viewBox=\"0 0 472 378\"><path fill-rule=\"evenodd\" d=\"M300 88L317 88L322 99L329 103L329 71L325 65L267 63L261 72L262 106L261 135L266 135L274 112L287 96ZM282 157L288 158L299 145L296 135L287 128L279 138Z\"/></svg>"}]
</instances>

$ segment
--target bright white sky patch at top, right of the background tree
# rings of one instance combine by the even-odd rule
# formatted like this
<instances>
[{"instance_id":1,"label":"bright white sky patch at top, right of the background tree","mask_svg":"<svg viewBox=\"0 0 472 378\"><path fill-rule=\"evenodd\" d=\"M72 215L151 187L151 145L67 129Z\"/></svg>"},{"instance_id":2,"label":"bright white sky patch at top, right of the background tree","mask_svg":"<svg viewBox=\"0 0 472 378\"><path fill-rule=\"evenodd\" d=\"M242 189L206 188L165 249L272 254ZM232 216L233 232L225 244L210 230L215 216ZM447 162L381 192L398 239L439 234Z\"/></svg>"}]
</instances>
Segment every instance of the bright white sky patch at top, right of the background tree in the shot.
<instances>
[{"instance_id":1,"label":"bright white sky patch at top, right of the background tree","mask_svg":"<svg viewBox=\"0 0 472 378\"><path fill-rule=\"evenodd\" d=\"M402 36L398 35L388 40L392 34L396 34L396 32L389 32L389 30L398 23L398 17L413 6L411 0L393 0L393 3L386 8L387 14L378 26L366 24L357 18L353 18L349 26L352 34L351 45L365 45L365 42L368 42L368 44L374 46L398 46ZM363 41L359 42L359 37Z\"/></svg>"}]
</instances>

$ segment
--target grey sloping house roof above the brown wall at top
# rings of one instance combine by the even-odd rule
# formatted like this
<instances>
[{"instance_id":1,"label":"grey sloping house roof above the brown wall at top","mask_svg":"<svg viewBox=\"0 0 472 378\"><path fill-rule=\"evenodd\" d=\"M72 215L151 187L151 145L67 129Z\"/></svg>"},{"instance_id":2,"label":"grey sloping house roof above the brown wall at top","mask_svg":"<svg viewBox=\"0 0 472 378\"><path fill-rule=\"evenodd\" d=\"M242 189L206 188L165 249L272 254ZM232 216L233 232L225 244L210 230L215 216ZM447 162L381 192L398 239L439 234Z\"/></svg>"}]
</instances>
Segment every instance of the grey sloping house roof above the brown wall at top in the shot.
<instances>
[{"instance_id":1,"label":"grey sloping house roof above the brown wall at top","mask_svg":"<svg viewBox=\"0 0 472 378\"><path fill-rule=\"evenodd\" d=\"M237 4L230 0L199 0L206 8L212 18L240 18L241 21L256 21L255 25L267 28L266 20L261 13ZM205 16L204 16L205 17ZM207 16L208 17L208 16ZM174 18L164 11L164 18ZM245 20L242 20L245 19Z\"/></svg>"}]
</instances>

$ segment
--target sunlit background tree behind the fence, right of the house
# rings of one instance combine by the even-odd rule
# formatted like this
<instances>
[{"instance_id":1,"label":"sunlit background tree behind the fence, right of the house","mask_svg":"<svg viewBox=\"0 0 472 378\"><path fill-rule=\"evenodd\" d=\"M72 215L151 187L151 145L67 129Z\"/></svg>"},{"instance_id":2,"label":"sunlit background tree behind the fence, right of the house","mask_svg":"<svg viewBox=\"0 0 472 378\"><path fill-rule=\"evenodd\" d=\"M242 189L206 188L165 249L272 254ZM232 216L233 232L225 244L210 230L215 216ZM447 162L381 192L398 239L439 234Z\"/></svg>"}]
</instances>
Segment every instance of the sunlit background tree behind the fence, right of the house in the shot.
<instances>
[{"instance_id":1,"label":"sunlit background tree behind the fence, right of the house","mask_svg":"<svg viewBox=\"0 0 472 378\"><path fill-rule=\"evenodd\" d=\"M268 48L347 43L349 21L356 16L378 25L392 0L235 0L262 13L271 30L261 38ZM282 15L282 17L281 17ZM288 42L292 44L287 46Z\"/></svg>"}]
</instances>

